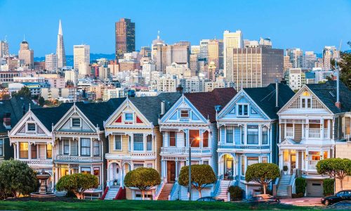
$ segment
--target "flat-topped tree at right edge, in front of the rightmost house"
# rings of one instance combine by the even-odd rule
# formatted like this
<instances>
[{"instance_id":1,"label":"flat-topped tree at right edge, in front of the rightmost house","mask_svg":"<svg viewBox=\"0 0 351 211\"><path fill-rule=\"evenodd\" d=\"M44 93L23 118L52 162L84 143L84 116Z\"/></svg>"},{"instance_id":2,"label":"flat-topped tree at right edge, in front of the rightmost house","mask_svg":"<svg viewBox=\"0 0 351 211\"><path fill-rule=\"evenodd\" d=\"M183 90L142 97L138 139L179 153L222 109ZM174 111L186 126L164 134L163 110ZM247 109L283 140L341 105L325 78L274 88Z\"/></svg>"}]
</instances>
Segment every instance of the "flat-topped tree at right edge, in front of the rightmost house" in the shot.
<instances>
[{"instance_id":1,"label":"flat-topped tree at right edge, in front of the rightmost house","mask_svg":"<svg viewBox=\"0 0 351 211\"><path fill-rule=\"evenodd\" d=\"M318 174L327 174L329 177L340 180L340 188L343 190L343 179L351 175L351 160L342 158L327 158L319 160L316 165Z\"/></svg>"}]
</instances>

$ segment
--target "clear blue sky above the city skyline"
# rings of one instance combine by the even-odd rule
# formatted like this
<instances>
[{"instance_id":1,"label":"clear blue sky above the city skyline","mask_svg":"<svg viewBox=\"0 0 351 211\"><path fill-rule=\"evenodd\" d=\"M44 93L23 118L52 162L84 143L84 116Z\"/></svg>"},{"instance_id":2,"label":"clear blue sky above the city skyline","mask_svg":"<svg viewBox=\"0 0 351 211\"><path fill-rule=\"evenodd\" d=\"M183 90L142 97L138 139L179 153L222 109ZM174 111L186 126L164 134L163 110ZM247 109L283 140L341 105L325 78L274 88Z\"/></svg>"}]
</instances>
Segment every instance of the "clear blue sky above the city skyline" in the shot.
<instances>
[{"instance_id":1,"label":"clear blue sky above the city skyline","mask_svg":"<svg viewBox=\"0 0 351 211\"><path fill-rule=\"evenodd\" d=\"M74 44L91 53L114 53L114 22L135 22L136 47L150 46L161 31L168 44L222 39L224 30L241 30L244 39L270 37L273 47L298 47L321 53L325 45L348 49L351 0L0 0L0 39L17 53L25 39L34 56L55 53L58 20L67 54Z\"/></svg>"}]
</instances>

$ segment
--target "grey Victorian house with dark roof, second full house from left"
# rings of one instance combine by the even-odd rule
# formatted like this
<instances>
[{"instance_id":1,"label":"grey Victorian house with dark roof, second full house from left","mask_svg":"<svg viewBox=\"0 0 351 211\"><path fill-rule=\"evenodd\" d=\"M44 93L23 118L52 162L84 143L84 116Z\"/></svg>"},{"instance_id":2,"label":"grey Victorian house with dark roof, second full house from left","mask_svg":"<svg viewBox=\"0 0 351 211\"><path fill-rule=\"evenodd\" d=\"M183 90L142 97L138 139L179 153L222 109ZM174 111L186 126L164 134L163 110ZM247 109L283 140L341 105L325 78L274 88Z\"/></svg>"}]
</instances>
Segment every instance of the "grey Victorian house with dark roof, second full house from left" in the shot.
<instances>
[{"instance_id":1,"label":"grey Victorian house with dark roof, second full house from left","mask_svg":"<svg viewBox=\"0 0 351 211\"><path fill-rule=\"evenodd\" d=\"M102 196L107 174L104 155L108 148L103 121L123 101L124 98L114 98L103 103L69 103L69 110L53 126L55 182L67 174L93 174L99 186L85 191L84 197Z\"/></svg>"}]
</instances>

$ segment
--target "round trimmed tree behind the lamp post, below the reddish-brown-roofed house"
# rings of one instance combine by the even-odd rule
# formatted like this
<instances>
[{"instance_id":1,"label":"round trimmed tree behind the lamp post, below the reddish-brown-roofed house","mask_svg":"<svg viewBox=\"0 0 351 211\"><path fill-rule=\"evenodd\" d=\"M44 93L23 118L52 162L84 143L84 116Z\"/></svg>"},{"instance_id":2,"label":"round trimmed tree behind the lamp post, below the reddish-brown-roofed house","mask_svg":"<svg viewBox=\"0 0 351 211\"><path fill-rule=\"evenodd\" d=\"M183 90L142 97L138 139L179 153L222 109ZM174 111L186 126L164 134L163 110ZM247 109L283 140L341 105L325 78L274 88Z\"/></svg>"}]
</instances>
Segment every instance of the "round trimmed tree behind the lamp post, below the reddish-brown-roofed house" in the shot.
<instances>
[{"instance_id":1,"label":"round trimmed tree behind the lamp post, below the reddish-brown-roofed house","mask_svg":"<svg viewBox=\"0 0 351 211\"><path fill-rule=\"evenodd\" d=\"M212 167L209 165L192 165L192 187L199 191L199 197L201 198L201 191L208 184L216 182L216 174L213 172ZM189 185L189 166L182 167L179 173L178 183L181 186Z\"/></svg>"}]
</instances>

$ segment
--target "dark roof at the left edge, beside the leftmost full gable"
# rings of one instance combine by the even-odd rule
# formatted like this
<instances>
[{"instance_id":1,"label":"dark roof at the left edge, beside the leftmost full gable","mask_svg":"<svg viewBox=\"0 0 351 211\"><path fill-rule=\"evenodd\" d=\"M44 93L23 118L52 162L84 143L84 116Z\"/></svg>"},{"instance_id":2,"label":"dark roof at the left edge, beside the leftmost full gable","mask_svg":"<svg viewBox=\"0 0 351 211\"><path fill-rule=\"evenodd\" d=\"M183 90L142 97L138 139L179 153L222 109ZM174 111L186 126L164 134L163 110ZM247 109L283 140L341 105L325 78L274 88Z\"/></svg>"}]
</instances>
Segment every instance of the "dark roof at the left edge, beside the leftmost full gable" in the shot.
<instances>
[{"instance_id":1,"label":"dark roof at the left edge, beside the leftmost full gable","mask_svg":"<svg viewBox=\"0 0 351 211\"><path fill-rule=\"evenodd\" d=\"M39 106L35 105L33 101L29 98L24 98L20 96L13 96L9 100L1 100L0 101L0 133L7 133L15 124L20 121L23 117L23 105L25 105L25 112L27 113L29 109L29 104L31 108L39 108ZM11 113L11 129L6 129L4 127L4 114Z\"/></svg>"}]
</instances>

